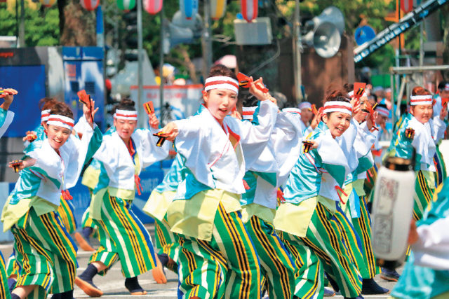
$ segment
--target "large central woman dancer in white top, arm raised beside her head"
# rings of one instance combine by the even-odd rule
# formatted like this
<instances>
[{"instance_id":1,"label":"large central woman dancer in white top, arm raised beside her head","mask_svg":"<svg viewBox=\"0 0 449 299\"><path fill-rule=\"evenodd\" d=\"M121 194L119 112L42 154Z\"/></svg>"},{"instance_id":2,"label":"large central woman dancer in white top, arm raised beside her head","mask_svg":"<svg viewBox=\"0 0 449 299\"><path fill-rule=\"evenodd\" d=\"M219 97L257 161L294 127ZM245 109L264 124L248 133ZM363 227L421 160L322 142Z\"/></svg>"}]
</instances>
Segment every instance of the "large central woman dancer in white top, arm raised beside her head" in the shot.
<instances>
[{"instance_id":1,"label":"large central woman dancer in white top, arm raised beside her head","mask_svg":"<svg viewBox=\"0 0 449 299\"><path fill-rule=\"evenodd\" d=\"M161 132L175 139L192 174L168 207L171 231L179 236L180 295L186 298L260 298L260 264L240 217L243 175L267 144L278 108L250 82L260 100L258 125L227 116L239 83L227 67L210 70L198 116L168 123ZM232 279L232 281L229 281Z\"/></svg>"}]
</instances>

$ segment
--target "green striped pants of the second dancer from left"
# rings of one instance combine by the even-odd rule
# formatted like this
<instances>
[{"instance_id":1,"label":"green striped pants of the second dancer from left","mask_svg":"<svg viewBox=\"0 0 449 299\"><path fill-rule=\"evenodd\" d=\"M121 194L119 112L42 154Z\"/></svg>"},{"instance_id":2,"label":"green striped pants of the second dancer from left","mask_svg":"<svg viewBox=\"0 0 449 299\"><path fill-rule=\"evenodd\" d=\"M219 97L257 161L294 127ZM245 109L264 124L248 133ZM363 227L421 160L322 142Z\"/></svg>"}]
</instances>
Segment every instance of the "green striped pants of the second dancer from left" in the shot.
<instances>
[{"instance_id":1,"label":"green striped pants of the second dancer from left","mask_svg":"<svg viewBox=\"0 0 449 299\"><path fill-rule=\"evenodd\" d=\"M120 260L126 278L135 277L156 267L151 237L139 218L131 210L131 201L105 193L101 220L93 220L98 227L100 248L89 263L102 262L107 270Z\"/></svg>"}]
</instances>

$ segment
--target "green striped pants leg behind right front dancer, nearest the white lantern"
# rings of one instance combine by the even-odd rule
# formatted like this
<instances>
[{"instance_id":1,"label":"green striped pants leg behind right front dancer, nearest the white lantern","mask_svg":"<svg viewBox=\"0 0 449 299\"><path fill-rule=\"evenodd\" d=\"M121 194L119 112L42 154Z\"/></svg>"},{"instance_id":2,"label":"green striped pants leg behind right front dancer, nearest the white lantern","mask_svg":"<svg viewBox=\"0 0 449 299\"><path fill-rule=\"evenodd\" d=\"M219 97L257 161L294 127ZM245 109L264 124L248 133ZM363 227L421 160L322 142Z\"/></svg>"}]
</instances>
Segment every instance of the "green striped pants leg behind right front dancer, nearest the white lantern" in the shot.
<instances>
[{"instance_id":1,"label":"green striped pants leg behind right front dancer, nearest the white lantern","mask_svg":"<svg viewBox=\"0 0 449 299\"><path fill-rule=\"evenodd\" d=\"M351 258L351 263L356 265L361 277L363 279L372 278L370 277L370 272L368 271L368 267L366 265L365 256L363 256L363 244L361 242L361 238L353 225L353 223L357 221L356 219L351 218L349 212L351 210L349 200L345 209L346 211L343 211L340 204L338 204L337 211L335 211L334 214L335 221L337 221L342 230L341 242L343 242L347 248L347 255Z\"/></svg>"}]
</instances>

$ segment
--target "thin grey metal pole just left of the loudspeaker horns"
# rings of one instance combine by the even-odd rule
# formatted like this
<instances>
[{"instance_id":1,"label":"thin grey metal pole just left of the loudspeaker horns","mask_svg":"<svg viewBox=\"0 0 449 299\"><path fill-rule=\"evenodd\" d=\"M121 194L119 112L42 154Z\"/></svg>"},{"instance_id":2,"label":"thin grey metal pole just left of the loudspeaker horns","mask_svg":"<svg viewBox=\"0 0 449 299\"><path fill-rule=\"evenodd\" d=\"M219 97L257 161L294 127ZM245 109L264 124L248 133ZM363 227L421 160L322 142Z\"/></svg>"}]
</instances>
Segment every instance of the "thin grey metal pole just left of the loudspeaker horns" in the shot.
<instances>
[{"instance_id":1,"label":"thin grey metal pole just left of the loudspeaker horns","mask_svg":"<svg viewBox=\"0 0 449 299\"><path fill-rule=\"evenodd\" d=\"M295 0L295 20L293 24L293 64L295 65L293 75L295 80L296 103L301 102L301 31L300 31L300 0Z\"/></svg>"}]
</instances>

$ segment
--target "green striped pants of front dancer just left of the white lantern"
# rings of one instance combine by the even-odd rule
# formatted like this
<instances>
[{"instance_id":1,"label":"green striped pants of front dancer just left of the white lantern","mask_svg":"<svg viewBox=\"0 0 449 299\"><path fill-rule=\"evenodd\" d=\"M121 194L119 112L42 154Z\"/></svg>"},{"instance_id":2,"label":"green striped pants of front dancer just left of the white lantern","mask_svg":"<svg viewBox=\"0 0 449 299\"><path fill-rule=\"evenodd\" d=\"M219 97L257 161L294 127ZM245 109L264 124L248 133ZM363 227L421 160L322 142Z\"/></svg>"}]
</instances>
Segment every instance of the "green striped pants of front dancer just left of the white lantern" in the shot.
<instances>
[{"instance_id":1,"label":"green striped pants of front dancer just left of the white lantern","mask_svg":"<svg viewBox=\"0 0 449 299\"><path fill-rule=\"evenodd\" d=\"M300 276L297 277L297 289L299 283L302 283L303 287L295 290L295 295L300 298L312 298L316 293L314 289L323 288L323 270L337 282L344 297L357 297L361 293L362 278L352 262L353 258L349 256L348 247L343 242L346 233L343 230L340 221L319 202L311 216L306 237L283 234L290 252L293 253L290 247L297 251L293 253L295 264L302 265ZM308 246L309 250L304 249L304 245ZM321 263L316 261L314 254ZM297 261L298 258L301 260ZM305 261L307 263L304 263ZM312 281L312 278L319 281ZM321 295L318 298L321 298Z\"/></svg>"}]
</instances>

